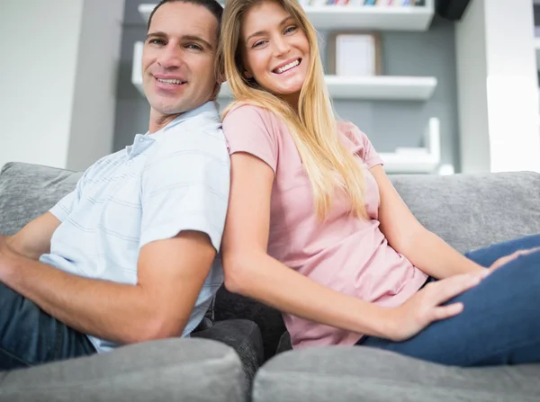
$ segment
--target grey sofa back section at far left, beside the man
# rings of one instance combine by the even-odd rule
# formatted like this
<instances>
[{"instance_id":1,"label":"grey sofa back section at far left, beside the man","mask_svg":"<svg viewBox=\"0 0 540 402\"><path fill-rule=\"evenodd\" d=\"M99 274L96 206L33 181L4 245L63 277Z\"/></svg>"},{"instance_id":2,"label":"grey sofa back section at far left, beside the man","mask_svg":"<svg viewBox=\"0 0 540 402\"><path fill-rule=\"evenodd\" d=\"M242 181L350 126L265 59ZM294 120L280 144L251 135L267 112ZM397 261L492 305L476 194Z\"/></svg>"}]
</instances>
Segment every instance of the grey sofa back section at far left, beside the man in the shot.
<instances>
[{"instance_id":1,"label":"grey sofa back section at far left, beside the man","mask_svg":"<svg viewBox=\"0 0 540 402\"><path fill-rule=\"evenodd\" d=\"M75 189L82 173L12 162L0 170L0 233L14 235Z\"/></svg>"}]
</instances>

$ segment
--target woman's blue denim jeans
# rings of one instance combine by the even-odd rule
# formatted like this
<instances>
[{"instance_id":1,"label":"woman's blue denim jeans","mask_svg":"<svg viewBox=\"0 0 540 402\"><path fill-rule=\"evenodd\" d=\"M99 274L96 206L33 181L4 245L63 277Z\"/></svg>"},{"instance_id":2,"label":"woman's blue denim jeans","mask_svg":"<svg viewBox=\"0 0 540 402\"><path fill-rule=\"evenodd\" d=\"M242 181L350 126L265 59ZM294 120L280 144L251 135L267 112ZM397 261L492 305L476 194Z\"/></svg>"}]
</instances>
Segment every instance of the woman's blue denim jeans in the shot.
<instances>
[{"instance_id":1,"label":"woman's blue denim jeans","mask_svg":"<svg viewBox=\"0 0 540 402\"><path fill-rule=\"evenodd\" d=\"M489 267L498 258L540 246L540 235L465 254ZM464 303L455 317L437 321L403 341L366 336L358 344L456 366L540 362L540 252L519 256L479 285L448 301Z\"/></svg>"}]
</instances>

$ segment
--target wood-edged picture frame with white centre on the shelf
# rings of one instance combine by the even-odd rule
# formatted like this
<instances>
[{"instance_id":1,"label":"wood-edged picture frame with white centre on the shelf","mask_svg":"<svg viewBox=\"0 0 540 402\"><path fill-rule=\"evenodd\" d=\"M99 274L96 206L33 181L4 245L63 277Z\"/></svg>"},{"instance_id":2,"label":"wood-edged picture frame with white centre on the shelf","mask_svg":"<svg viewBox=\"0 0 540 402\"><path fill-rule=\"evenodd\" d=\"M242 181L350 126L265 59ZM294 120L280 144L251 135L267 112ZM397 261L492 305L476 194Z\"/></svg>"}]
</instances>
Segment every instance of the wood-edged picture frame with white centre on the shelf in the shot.
<instances>
[{"instance_id":1,"label":"wood-edged picture frame with white centre on the shelf","mask_svg":"<svg viewBox=\"0 0 540 402\"><path fill-rule=\"evenodd\" d=\"M382 75L380 35L373 31L330 32L329 74L335 76Z\"/></svg>"}]
</instances>

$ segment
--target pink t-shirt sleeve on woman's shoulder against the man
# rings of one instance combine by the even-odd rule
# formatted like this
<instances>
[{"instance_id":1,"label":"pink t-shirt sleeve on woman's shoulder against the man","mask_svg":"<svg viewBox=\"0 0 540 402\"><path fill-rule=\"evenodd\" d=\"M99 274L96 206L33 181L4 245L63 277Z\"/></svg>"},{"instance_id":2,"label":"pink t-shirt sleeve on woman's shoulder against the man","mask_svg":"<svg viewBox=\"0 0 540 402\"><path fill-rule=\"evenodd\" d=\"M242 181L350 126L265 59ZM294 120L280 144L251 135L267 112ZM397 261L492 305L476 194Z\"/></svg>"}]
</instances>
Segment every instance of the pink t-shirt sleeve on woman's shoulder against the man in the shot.
<instances>
[{"instance_id":1,"label":"pink t-shirt sleeve on woman's shoulder against the man","mask_svg":"<svg viewBox=\"0 0 540 402\"><path fill-rule=\"evenodd\" d=\"M278 147L270 112L251 105L239 106L225 116L223 132L230 155L247 152L266 162L275 173Z\"/></svg>"}]
</instances>

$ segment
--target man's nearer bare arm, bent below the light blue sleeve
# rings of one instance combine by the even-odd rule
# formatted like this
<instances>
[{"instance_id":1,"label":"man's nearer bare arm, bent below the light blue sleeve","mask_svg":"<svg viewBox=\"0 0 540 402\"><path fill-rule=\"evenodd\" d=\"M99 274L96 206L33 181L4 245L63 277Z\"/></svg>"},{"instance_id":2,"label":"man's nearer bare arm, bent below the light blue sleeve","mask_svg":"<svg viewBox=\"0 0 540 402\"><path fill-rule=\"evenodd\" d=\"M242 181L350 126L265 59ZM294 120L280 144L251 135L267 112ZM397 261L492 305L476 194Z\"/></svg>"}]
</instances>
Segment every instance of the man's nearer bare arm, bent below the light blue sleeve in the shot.
<instances>
[{"instance_id":1,"label":"man's nearer bare arm, bent below the light blue sleeve","mask_svg":"<svg viewBox=\"0 0 540 402\"><path fill-rule=\"evenodd\" d=\"M148 243L139 254L137 284L127 285L60 271L4 243L0 281L67 326L132 344L182 334L215 254L209 237L197 231Z\"/></svg>"}]
</instances>

